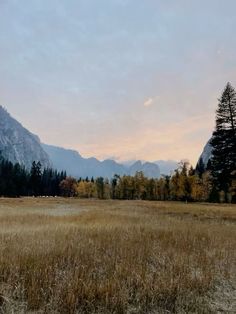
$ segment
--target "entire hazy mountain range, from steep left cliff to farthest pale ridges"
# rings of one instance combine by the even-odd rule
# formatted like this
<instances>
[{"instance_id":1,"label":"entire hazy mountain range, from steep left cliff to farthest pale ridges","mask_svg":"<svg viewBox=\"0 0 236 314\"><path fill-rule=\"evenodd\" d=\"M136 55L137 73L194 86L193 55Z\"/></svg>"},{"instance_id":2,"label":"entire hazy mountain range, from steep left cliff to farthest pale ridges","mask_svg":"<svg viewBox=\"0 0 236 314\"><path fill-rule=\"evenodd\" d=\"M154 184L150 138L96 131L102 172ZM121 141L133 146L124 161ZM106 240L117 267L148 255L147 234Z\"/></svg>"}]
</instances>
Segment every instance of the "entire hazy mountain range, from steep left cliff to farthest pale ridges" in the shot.
<instances>
[{"instance_id":1,"label":"entire hazy mountain range, from steep left cliff to farthest pale ridges","mask_svg":"<svg viewBox=\"0 0 236 314\"><path fill-rule=\"evenodd\" d=\"M114 160L99 161L96 158L83 158L77 151L53 145L42 144L38 136L25 129L18 121L0 106L0 152L1 155L30 169L33 161L40 161L43 168L53 167L65 170L74 177L106 177L134 175L142 171L149 178L168 175L177 168L175 161L142 162L121 164Z\"/></svg>"}]
</instances>

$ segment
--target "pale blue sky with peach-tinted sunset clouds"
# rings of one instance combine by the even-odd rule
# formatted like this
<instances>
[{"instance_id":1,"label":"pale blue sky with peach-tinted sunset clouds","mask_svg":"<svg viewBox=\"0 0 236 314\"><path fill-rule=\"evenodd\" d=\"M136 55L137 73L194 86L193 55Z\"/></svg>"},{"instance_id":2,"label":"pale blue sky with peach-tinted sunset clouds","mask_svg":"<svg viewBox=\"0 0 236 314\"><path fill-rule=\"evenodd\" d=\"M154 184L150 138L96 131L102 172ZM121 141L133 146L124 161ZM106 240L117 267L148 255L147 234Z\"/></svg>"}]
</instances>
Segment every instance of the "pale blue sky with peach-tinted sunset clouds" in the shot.
<instances>
[{"instance_id":1,"label":"pale blue sky with peach-tinted sunset clouds","mask_svg":"<svg viewBox=\"0 0 236 314\"><path fill-rule=\"evenodd\" d=\"M0 104L84 157L195 164L236 86L235 0L0 0Z\"/></svg>"}]
</instances>

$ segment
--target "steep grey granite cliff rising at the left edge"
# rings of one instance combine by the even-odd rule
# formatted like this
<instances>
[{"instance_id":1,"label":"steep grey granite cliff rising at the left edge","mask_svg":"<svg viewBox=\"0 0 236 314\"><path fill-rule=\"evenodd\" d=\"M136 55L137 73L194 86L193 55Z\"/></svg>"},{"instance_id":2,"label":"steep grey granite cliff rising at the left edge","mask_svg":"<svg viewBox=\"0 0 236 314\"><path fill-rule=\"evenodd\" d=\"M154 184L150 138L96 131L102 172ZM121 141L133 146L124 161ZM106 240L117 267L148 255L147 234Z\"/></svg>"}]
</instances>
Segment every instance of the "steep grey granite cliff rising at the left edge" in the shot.
<instances>
[{"instance_id":1,"label":"steep grey granite cliff rising at the left edge","mask_svg":"<svg viewBox=\"0 0 236 314\"><path fill-rule=\"evenodd\" d=\"M39 138L25 129L0 106L0 153L13 163L31 168L33 161L40 161L43 168L51 165Z\"/></svg>"}]
</instances>

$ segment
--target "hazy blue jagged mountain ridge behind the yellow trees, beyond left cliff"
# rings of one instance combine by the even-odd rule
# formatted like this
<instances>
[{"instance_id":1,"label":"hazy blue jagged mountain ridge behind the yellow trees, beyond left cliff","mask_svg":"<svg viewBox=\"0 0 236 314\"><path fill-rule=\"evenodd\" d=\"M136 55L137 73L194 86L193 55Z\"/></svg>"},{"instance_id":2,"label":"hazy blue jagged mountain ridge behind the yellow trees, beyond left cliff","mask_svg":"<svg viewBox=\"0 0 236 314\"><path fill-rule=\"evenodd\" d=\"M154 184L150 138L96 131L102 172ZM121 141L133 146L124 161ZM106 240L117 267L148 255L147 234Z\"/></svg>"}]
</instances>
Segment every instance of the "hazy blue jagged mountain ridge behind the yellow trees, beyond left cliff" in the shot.
<instances>
[{"instance_id":1,"label":"hazy blue jagged mountain ridge behind the yellow trees, beyond left cliff","mask_svg":"<svg viewBox=\"0 0 236 314\"><path fill-rule=\"evenodd\" d=\"M112 178L118 175L134 175L137 171L143 171L149 178L158 178L160 169L153 163L135 162L131 166L125 166L114 160L99 161L96 158L83 158L77 151L64 149L57 146L42 144L43 149L49 155L53 167L57 170L66 170L68 175L74 177L105 177Z\"/></svg>"}]
</instances>

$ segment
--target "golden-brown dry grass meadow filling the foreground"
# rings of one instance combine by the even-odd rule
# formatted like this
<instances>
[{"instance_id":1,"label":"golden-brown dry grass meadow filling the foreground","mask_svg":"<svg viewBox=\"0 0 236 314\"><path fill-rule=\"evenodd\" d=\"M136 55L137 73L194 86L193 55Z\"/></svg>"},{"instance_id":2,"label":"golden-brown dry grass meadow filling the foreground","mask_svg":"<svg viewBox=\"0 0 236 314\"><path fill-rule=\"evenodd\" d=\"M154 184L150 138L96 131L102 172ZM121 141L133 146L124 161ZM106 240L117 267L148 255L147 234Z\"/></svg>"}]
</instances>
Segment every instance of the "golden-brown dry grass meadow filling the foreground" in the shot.
<instances>
[{"instance_id":1,"label":"golden-brown dry grass meadow filling the foreground","mask_svg":"<svg viewBox=\"0 0 236 314\"><path fill-rule=\"evenodd\" d=\"M236 206L0 199L1 313L236 313Z\"/></svg>"}]
</instances>

